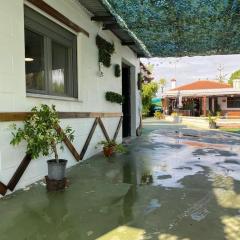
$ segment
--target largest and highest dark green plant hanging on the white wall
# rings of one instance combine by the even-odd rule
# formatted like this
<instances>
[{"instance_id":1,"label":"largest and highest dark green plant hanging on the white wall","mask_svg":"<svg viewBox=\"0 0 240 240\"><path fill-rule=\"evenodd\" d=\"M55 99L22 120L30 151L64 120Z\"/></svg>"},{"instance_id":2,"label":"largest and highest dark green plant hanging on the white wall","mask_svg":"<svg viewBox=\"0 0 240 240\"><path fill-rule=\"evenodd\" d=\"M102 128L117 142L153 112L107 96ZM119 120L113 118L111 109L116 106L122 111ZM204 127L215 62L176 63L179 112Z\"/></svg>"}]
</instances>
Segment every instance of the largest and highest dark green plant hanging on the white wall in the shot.
<instances>
[{"instance_id":1,"label":"largest and highest dark green plant hanging on the white wall","mask_svg":"<svg viewBox=\"0 0 240 240\"><path fill-rule=\"evenodd\" d=\"M99 35L96 37L98 46L98 61L102 62L105 67L111 66L111 55L114 53L114 44L109 43Z\"/></svg>"}]
</instances>

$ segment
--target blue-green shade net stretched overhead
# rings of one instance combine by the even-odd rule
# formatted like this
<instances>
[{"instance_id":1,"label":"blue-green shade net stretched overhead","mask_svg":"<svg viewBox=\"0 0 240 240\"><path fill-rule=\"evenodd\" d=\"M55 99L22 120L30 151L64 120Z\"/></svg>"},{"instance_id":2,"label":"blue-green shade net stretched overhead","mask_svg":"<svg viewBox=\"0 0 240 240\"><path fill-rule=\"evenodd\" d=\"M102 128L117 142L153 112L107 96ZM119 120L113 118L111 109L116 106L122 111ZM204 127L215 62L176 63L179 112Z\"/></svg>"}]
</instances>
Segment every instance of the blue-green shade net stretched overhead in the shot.
<instances>
[{"instance_id":1,"label":"blue-green shade net stretched overhead","mask_svg":"<svg viewBox=\"0 0 240 240\"><path fill-rule=\"evenodd\" d=\"M240 0L103 0L152 56L240 53Z\"/></svg>"}]
</instances>

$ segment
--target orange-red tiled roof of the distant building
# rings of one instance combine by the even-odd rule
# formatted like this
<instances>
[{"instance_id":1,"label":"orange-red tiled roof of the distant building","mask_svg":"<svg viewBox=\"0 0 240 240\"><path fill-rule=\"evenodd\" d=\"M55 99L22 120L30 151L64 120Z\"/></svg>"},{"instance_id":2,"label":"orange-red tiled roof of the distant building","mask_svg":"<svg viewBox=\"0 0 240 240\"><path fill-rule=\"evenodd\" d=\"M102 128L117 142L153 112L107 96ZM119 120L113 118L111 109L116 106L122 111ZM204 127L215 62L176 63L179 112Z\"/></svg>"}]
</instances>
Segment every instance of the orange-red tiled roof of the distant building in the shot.
<instances>
[{"instance_id":1,"label":"orange-red tiled roof of the distant building","mask_svg":"<svg viewBox=\"0 0 240 240\"><path fill-rule=\"evenodd\" d=\"M219 88L231 88L231 85L226 83L220 83L217 81L199 80L193 83L182 85L180 87L171 89L170 91L182 91L182 90L199 90L199 89L219 89Z\"/></svg>"}]
</instances>

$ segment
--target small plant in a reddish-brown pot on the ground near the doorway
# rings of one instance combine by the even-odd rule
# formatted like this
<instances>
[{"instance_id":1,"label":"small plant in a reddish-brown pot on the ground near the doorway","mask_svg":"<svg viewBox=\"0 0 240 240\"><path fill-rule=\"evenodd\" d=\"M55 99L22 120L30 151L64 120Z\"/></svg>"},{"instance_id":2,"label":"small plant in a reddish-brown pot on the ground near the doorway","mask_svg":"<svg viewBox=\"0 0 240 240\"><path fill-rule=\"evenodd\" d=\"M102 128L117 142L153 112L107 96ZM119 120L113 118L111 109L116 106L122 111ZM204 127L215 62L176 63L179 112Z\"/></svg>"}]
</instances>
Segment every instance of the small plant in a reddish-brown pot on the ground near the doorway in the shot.
<instances>
[{"instance_id":1,"label":"small plant in a reddish-brown pot on the ground near the doorway","mask_svg":"<svg viewBox=\"0 0 240 240\"><path fill-rule=\"evenodd\" d=\"M125 147L120 143L116 143L114 140L111 141L101 141L98 145L103 146L103 154L105 157L111 157L114 153L124 153L126 152Z\"/></svg>"}]
</instances>

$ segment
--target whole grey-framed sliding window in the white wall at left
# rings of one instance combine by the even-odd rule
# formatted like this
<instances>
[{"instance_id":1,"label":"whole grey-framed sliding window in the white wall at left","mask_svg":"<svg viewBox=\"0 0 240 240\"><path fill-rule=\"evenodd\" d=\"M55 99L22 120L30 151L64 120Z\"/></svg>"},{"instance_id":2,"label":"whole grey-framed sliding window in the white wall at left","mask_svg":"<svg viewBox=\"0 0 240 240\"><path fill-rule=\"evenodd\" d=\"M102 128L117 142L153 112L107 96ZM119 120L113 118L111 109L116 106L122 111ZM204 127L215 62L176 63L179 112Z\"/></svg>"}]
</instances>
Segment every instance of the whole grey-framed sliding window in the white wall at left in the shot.
<instances>
[{"instance_id":1,"label":"whole grey-framed sliding window in the white wall at left","mask_svg":"<svg viewBox=\"0 0 240 240\"><path fill-rule=\"evenodd\" d=\"M77 97L76 35L25 7L28 93Z\"/></svg>"}]
</instances>

